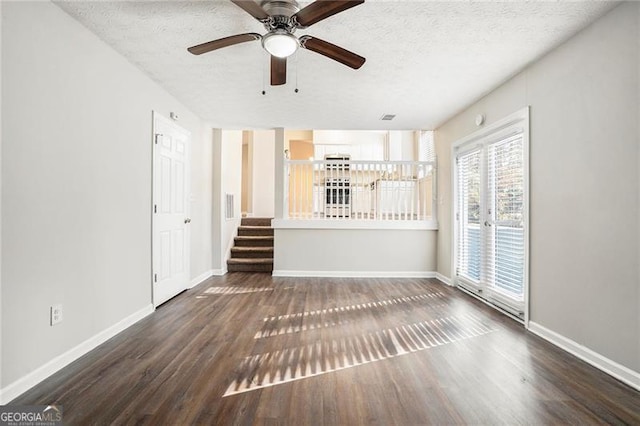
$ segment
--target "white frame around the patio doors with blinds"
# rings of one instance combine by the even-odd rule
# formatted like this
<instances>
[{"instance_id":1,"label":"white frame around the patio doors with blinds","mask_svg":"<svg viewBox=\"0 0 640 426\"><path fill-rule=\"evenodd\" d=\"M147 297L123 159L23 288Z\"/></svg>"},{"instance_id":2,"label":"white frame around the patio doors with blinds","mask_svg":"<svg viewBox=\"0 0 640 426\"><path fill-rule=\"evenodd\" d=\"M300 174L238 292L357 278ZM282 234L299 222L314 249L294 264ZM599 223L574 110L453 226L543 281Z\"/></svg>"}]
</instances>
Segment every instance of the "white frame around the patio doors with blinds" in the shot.
<instances>
[{"instance_id":1,"label":"white frame around the patio doors with blinds","mask_svg":"<svg viewBox=\"0 0 640 426\"><path fill-rule=\"evenodd\" d=\"M522 128L523 149L524 149L524 325L529 327L529 107L525 107L516 111L509 116L498 120L497 122L487 125L474 133L457 140L451 145L451 271L452 284L458 286L456 274L456 265L458 264L458 185L457 185L457 165L456 157L459 152L467 151L472 145L486 143L486 140L495 140L504 137L510 131L510 128L519 126ZM490 143L490 142L489 142ZM482 299L484 301L484 299ZM487 302L489 303L489 302ZM499 306L498 306L499 307ZM515 317L514 317L515 318Z\"/></svg>"}]
</instances>

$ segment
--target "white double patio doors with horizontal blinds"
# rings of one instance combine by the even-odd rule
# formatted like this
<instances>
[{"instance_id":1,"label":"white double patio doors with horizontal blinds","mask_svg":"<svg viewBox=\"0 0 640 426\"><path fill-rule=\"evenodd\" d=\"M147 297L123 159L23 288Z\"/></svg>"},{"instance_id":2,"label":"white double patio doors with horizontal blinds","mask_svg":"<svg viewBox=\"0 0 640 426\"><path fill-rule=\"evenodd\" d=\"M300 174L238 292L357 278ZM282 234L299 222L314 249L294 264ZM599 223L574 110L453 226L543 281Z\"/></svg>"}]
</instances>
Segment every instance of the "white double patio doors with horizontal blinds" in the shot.
<instances>
[{"instance_id":1,"label":"white double patio doors with horizontal blinds","mask_svg":"<svg viewBox=\"0 0 640 426\"><path fill-rule=\"evenodd\" d=\"M524 319L526 126L486 130L455 148L455 283Z\"/></svg>"}]
</instances>

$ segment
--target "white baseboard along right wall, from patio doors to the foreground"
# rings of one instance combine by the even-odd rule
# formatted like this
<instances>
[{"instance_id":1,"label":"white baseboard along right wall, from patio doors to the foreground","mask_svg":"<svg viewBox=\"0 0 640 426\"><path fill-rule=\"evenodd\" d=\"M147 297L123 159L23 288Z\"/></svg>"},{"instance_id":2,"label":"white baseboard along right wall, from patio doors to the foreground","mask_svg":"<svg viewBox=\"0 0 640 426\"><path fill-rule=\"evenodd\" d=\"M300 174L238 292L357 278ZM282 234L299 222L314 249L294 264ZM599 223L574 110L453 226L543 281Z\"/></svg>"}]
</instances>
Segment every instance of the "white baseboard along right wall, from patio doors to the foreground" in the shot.
<instances>
[{"instance_id":1,"label":"white baseboard along right wall, from patio doors to the foreground","mask_svg":"<svg viewBox=\"0 0 640 426\"><path fill-rule=\"evenodd\" d=\"M640 390L640 373L637 371L633 371L624 365L618 364L617 362L600 355L586 346L574 342L573 340L564 337L555 331L549 330L536 322L529 321L529 331L542 337L544 340L553 343L559 348L564 349L570 354L575 355L586 363L593 365L597 369L604 371L608 375L615 377L621 382L626 383L632 388Z\"/></svg>"}]
</instances>

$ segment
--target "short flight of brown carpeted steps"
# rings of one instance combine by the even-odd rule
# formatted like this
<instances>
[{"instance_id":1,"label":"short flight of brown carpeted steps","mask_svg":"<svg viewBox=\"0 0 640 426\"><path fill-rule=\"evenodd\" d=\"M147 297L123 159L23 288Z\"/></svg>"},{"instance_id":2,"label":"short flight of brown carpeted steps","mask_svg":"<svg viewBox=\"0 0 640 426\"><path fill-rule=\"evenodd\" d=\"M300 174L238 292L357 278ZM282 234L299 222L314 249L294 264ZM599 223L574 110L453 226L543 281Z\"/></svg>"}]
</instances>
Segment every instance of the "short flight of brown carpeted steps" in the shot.
<instances>
[{"instance_id":1,"label":"short flight of brown carpeted steps","mask_svg":"<svg viewBox=\"0 0 640 426\"><path fill-rule=\"evenodd\" d=\"M244 217L227 261L228 272L273 272L270 218Z\"/></svg>"}]
</instances>

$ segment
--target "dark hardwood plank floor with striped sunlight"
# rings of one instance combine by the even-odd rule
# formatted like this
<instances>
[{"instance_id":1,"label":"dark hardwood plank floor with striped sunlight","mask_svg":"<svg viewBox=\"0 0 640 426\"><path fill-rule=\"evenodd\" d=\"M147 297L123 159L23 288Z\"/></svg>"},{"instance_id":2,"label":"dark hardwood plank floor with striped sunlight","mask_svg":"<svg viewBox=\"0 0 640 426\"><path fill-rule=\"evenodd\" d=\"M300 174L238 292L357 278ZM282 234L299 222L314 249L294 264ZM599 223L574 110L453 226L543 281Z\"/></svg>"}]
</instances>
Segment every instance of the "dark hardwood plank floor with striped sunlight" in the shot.
<instances>
[{"instance_id":1,"label":"dark hardwood plank floor with striped sunlight","mask_svg":"<svg viewBox=\"0 0 640 426\"><path fill-rule=\"evenodd\" d=\"M65 424L640 424L640 393L429 279L212 278L23 394Z\"/></svg>"}]
</instances>

